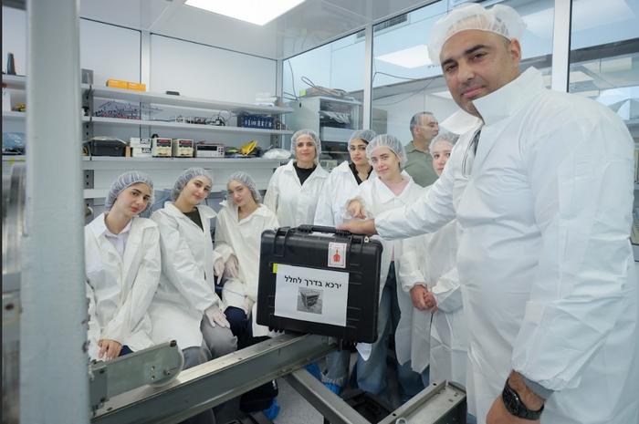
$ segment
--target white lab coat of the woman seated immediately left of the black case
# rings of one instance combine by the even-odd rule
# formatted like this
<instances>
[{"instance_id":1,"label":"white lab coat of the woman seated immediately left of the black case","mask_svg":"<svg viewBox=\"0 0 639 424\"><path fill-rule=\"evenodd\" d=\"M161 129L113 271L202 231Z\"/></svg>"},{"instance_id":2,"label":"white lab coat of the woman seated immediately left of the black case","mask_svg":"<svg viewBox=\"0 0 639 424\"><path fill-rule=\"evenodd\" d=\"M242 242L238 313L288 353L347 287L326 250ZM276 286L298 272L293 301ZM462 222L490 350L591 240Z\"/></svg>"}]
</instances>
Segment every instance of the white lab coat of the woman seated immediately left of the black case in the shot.
<instances>
[{"instance_id":1,"label":"white lab coat of the woman seated immediately left of the black case","mask_svg":"<svg viewBox=\"0 0 639 424\"><path fill-rule=\"evenodd\" d=\"M259 204L255 212L238 220L237 206L233 202L222 202L215 224L214 263L218 259L226 262L231 254L239 264L237 277L229 278L222 289L223 309L235 306L244 309L246 315L253 314L253 336L266 336L267 326L258 326L257 282L259 281L259 250L262 233L279 227L278 218L270 209Z\"/></svg>"}]
</instances>

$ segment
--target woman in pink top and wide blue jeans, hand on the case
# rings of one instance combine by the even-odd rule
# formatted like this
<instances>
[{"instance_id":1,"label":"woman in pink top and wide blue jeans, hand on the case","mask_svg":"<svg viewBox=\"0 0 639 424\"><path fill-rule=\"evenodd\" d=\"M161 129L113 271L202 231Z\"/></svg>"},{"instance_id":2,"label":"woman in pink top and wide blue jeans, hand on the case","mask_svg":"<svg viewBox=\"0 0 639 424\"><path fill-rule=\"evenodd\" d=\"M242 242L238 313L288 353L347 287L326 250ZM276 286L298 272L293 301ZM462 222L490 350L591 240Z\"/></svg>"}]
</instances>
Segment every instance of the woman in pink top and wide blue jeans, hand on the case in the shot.
<instances>
[{"instance_id":1,"label":"woman in pink top and wide blue jeans, hand on the case","mask_svg":"<svg viewBox=\"0 0 639 424\"><path fill-rule=\"evenodd\" d=\"M400 140L389 134L381 134L372 139L366 148L366 156L372 164L376 176L361 183L356 201L347 204L351 216L363 210L369 217L413 202L424 190L406 172L406 152ZM360 345L357 360L357 384L368 392L382 394L386 388L386 350L388 338L395 334L397 374L400 381L402 401L413 397L424 388L419 374L423 369L411 368L418 363L416 356L424 352L412 350L412 340L424 337L424 323L414 322L413 305L401 286L397 286L395 260L402 254L401 242L386 242L383 245L382 266L380 268L380 305L377 321L378 338L370 346L370 357L366 357L368 346ZM394 323L393 323L394 321ZM422 324L418 326L417 324ZM363 353L362 353L363 352ZM425 353L427 355L427 353ZM426 364L427 365L427 364Z\"/></svg>"}]
</instances>

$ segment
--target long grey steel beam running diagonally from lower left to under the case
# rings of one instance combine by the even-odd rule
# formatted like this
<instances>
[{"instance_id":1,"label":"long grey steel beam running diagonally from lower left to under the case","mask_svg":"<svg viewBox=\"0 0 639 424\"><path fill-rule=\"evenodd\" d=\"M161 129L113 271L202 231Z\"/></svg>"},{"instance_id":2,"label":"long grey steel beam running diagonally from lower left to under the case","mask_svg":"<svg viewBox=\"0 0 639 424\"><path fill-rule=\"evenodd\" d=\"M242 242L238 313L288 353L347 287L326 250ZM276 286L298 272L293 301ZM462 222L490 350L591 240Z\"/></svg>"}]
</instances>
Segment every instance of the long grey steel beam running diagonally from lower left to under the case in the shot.
<instances>
[{"instance_id":1,"label":"long grey steel beam running diagonally from lower left to under the case","mask_svg":"<svg viewBox=\"0 0 639 424\"><path fill-rule=\"evenodd\" d=\"M91 422L180 422L326 356L334 343L324 336L277 336L186 369L164 388L143 387L111 398Z\"/></svg>"}]
</instances>

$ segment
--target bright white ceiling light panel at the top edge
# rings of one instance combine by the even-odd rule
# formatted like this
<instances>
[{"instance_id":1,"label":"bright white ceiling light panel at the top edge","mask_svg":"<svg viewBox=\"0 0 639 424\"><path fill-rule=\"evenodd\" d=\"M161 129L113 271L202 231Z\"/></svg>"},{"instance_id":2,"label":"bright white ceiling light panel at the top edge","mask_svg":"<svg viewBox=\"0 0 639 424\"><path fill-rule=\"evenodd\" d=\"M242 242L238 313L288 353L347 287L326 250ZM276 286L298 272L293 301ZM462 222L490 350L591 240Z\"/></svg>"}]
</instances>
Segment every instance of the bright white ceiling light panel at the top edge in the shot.
<instances>
[{"instance_id":1,"label":"bright white ceiling light panel at the top edge","mask_svg":"<svg viewBox=\"0 0 639 424\"><path fill-rule=\"evenodd\" d=\"M303 2L304 0L186 0L184 5L251 24L265 25Z\"/></svg>"}]
</instances>

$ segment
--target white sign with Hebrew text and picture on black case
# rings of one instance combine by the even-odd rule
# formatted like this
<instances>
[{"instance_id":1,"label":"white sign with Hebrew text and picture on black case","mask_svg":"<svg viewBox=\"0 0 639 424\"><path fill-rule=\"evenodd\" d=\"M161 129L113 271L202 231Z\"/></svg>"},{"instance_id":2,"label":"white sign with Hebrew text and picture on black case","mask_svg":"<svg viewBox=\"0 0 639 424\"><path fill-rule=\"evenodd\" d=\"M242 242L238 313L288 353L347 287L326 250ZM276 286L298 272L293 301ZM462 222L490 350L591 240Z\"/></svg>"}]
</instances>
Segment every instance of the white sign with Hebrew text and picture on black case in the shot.
<instances>
[{"instance_id":1,"label":"white sign with Hebrew text and picture on black case","mask_svg":"<svg viewBox=\"0 0 639 424\"><path fill-rule=\"evenodd\" d=\"M346 326L349 273L278 264L275 315Z\"/></svg>"}]
</instances>

